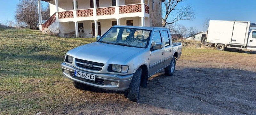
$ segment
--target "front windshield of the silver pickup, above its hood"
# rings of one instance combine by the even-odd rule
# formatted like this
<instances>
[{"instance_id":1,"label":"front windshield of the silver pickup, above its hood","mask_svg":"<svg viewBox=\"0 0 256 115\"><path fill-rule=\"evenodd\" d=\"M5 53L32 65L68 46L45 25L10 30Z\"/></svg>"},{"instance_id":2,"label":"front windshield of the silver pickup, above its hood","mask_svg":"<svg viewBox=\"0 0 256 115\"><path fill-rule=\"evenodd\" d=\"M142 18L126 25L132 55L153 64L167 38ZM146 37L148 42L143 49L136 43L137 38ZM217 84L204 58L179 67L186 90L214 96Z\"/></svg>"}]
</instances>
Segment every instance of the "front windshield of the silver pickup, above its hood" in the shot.
<instances>
[{"instance_id":1,"label":"front windshield of the silver pickup, above its hood","mask_svg":"<svg viewBox=\"0 0 256 115\"><path fill-rule=\"evenodd\" d=\"M149 42L149 30L112 27L98 42L145 48Z\"/></svg>"}]
</instances>

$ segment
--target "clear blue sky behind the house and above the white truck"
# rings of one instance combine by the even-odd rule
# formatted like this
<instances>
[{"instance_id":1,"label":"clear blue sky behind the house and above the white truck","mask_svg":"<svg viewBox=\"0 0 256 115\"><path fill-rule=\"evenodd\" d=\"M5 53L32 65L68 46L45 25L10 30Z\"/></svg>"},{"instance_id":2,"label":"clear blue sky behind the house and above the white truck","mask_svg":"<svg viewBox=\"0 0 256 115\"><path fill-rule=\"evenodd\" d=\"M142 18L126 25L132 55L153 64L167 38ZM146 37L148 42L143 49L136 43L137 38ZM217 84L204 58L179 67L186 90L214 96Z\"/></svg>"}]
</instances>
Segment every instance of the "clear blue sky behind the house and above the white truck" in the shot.
<instances>
[{"instance_id":1,"label":"clear blue sky behind the house and above the white truck","mask_svg":"<svg viewBox=\"0 0 256 115\"><path fill-rule=\"evenodd\" d=\"M14 19L16 4L19 0L0 0L0 22ZM43 2L45 5L45 2ZM256 23L256 0L187 0L180 5L191 4L196 12L193 21L181 20L175 24L197 27L204 31L204 19L239 20Z\"/></svg>"}]
</instances>

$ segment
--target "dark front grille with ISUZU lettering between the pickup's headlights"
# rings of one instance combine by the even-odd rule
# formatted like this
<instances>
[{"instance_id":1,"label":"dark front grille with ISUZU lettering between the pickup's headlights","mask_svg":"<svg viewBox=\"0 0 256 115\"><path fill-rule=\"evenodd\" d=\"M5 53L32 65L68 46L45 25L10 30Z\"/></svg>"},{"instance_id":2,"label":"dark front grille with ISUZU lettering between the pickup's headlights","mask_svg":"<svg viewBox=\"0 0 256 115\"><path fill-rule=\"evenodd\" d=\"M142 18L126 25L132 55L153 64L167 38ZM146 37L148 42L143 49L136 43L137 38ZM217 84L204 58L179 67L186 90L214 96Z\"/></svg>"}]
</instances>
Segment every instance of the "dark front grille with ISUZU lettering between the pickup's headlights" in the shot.
<instances>
[{"instance_id":1,"label":"dark front grille with ISUZU lettering between the pickup's headlights","mask_svg":"<svg viewBox=\"0 0 256 115\"><path fill-rule=\"evenodd\" d=\"M78 63L77 63L78 62ZM82 64L81 64L82 63ZM96 65L96 66L100 66L100 67L89 67L89 66L84 66L84 63L87 64L92 64L92 65ZM100 71L102 70L102 67L105 64L102 63L97 63L97 62L92 62L92 61L87 61L87 60L83 60L83 59L76 59L76 65L85 69L89 69L89 70L96 70L96 71Z\"/></svg>"}]
</instances>

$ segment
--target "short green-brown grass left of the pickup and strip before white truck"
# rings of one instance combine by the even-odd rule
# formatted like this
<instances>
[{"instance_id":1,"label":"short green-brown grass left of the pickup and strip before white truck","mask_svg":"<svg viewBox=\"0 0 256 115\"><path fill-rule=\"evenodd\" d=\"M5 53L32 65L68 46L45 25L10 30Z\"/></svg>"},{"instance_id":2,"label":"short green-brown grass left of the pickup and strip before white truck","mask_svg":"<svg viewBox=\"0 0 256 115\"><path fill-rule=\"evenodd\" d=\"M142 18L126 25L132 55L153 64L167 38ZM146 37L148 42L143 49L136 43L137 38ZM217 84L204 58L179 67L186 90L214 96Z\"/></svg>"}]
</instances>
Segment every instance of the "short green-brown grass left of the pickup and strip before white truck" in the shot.
<instances>
[{"instance_id":1,"label":"short green-brown grass left of the pickup and strip before white truck","mask_svg":"<svg viewBox=\"0 0 256 115\"><path fill-rule=\"evenodd\" d=\"M86 104L60 64L68 50L95 38L61 38L30 29L0 28L0 114L61 113ZM212 49L182 50L181 59L219 54ZM228 52L235 55L233 52ZM238 53L237 55L247 55Z\"/></svg>"}]
</instances>

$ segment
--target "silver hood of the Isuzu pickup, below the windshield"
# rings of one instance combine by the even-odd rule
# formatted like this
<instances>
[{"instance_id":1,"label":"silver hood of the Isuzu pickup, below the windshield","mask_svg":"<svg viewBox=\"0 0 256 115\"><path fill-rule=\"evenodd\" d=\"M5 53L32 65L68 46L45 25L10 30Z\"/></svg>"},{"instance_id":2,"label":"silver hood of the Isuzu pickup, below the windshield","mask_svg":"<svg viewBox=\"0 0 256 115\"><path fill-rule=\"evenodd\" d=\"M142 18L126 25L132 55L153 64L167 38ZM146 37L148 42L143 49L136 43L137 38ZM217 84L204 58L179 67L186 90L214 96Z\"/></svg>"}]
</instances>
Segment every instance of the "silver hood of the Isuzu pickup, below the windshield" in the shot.
<instances>
[{"instance_id":1,"label":"silver hood of the Isuzu pickup, below the windshield","mask_svg":"<svg viewBox=\"0 0 256 115\"><path fill-rule=\"evenodd\" d=\"M79 46L68 51L67 55L74 58L83 59L103 64L123 65L124 61L132 55L144 50L144 48L135 48L121 45L93 42Z\"/></svg>"}]
</instances>

